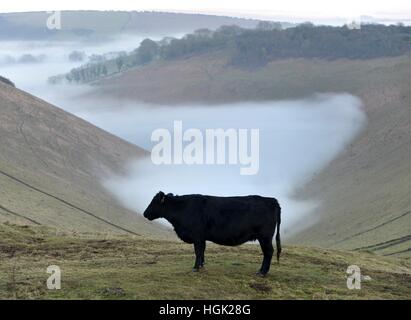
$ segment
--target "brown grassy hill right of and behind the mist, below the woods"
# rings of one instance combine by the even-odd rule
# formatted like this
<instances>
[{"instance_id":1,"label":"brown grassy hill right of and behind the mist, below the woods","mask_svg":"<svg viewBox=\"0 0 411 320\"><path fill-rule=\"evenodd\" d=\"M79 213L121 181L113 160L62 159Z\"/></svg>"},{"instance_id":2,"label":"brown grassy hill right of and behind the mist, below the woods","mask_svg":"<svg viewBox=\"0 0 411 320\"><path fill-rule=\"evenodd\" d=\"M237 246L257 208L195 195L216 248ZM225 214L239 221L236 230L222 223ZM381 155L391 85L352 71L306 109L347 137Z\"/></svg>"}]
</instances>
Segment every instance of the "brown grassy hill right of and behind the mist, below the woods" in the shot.
<instances>
[{"instance_id":1,"label":"brown grassy hill right of and behind the mist, below the woods","mask_svg":"<svg viewBox=\"0 0 411 320\"><path fill-rule=\"evenodd\" d=\"M363 132L299 197L322 201L321 222L293 242L411 254L411 58L280 60L259 69L227 64L224 53L161 62L105 79L98 94L150 103L223 103L359 96ZM286 213L284 213L286 219Z\"/></svg>"}]
</instances>

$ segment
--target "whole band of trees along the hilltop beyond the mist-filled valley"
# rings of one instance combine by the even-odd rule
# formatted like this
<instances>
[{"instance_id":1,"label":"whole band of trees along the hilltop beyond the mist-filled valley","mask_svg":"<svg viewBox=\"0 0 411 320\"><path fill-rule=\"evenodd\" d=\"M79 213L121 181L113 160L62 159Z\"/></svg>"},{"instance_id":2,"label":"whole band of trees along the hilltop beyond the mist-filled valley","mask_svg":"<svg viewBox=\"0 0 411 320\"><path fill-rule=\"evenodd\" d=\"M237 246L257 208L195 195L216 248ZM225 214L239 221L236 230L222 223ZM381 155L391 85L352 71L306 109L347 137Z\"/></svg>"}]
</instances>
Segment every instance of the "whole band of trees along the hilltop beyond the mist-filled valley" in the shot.
<instances>
[{"instance_id":1,"label":"whole band of trees along the hilltop beyond the mist-filled valley","mask_svg":"<svg viewBox=\"0 0 411 320\"><path fill-rule=\"evenodd\" d=\"M261 22L255 29L222 26L215 31L200 29L181 39L145 39L129 54L73 69L69 82L90 82L107 75L143 66L157 60L173 60L224 50L230 64L264 66L285 58L370 59L398 56L411 51L411 27L404 25L314 26L303 23L283 29L275 22Z\"/></svg>"}]
</instances>

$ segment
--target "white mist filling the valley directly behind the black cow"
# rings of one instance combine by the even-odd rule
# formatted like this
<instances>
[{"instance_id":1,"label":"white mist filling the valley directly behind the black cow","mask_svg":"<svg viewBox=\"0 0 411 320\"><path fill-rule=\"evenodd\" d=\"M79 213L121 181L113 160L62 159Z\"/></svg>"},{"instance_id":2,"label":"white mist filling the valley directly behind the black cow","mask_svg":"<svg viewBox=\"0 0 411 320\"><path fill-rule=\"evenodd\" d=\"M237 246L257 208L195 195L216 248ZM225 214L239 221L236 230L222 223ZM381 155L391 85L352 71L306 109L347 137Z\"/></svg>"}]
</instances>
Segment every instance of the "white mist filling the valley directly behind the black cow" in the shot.
<instances>
[{"instance_id":1,"label":"white mist filling the valley directly behind the black cow","mask_svg":"<svg viewBox=\"0 0 411 320\"><path fill-rule=\"evenodd\" d=\"M126 175L112 176L103 184L123 205L139 213L160 190L177 195L275 197L283 209L285 235L307 226L306 221L314 223L312 217L316 218L317 200L295 200L295 190L335 158L365 122L361 102L348 94L217 106L151 106L107 100L83 103L71 111L146 150L155 145L152 132L165 128L172 133L174 121L182 121L183 130L202 132L259 129L256 175L240 175L241 164L154 165L147 156L130 163ZM308 214L312 217L303 220Z\"/></svg>"}]
</instances>

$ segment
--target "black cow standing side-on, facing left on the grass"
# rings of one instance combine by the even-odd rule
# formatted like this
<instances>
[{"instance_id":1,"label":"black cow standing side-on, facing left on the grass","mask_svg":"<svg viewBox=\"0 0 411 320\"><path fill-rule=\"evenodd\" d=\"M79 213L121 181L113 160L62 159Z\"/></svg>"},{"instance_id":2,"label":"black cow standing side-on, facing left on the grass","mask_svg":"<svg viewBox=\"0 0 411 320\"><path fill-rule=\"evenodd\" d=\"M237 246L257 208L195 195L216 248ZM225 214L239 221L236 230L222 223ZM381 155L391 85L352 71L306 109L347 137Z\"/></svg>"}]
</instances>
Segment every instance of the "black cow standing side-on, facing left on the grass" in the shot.
<instances>
[{"instance_id":1,"label":"black cow standing side-on, facing left on the grass","mask_svg":"<svg viewBox=\"0 0 411 320\"><path fill-rule=\"evenodd\" d=\"M193 271L204 266L206 241L236 246L258 240L264 254L258 274L264 276L270 270L276 227L277 260L280 259L281 208L274 198L174 196L160 191L144 211L144 217L150 221L167 219L181 240L194 244Z\"/></svg>"}]
</instances>

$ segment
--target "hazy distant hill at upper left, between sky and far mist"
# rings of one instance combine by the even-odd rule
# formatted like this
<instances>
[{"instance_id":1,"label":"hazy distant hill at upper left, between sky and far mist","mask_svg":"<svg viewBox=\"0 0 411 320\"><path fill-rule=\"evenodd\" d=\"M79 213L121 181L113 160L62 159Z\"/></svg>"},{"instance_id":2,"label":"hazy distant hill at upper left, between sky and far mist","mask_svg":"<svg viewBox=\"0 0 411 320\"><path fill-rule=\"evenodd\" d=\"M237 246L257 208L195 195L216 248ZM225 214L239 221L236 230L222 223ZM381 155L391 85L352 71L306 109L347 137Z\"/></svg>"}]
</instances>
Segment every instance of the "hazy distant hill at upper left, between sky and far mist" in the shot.
<instances>
[{"instance_id":1,"label":"hazy distant hill at upper left, between sky and far mist","mask_svg":"<svg viewBox=\"0 0 411 320\"><path fill-rule=\"evenodd\" d=\"M61 30L49 30L46 12L0 14L0 39L95 39L117 34L174 34L222 25L253 28L258 20L203 14L138 11L62 11Z\"/></svg>"}]
</instances>

